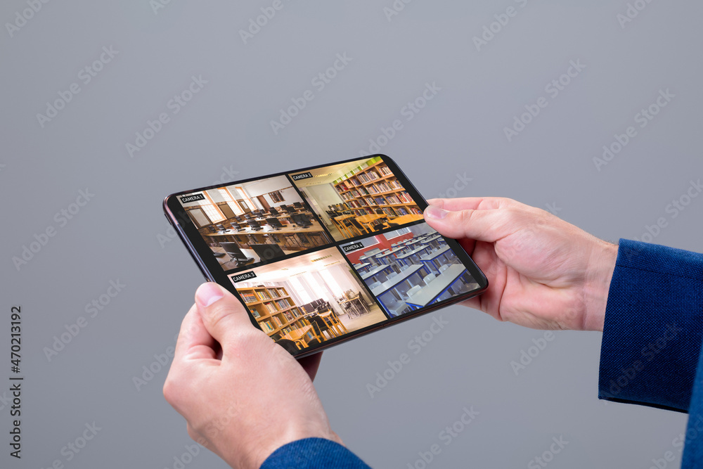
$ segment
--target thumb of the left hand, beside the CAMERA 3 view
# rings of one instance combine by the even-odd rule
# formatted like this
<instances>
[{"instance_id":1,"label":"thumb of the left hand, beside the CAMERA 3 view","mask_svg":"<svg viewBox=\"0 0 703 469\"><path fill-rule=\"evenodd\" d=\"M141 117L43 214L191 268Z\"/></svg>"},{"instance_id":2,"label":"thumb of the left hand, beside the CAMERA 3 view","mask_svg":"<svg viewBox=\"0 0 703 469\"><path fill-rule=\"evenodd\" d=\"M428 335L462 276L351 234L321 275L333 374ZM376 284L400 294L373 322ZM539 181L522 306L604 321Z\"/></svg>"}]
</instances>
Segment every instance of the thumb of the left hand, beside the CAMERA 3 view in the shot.
<instances>
[{"instance_id":1,"label":"thumb of the left hand, beside the CAMERA 3 view","mask_svg":"<svg viewBox=\"0 0 703 469\"><path fill-rule=\"evenodd\" d=\"M227 338L245 328L254 328L243 304L228 290L205 282L195 291L195 304L207 332L224 347Z\"/></svg>"}]
</instances>

